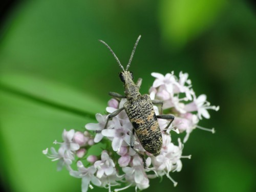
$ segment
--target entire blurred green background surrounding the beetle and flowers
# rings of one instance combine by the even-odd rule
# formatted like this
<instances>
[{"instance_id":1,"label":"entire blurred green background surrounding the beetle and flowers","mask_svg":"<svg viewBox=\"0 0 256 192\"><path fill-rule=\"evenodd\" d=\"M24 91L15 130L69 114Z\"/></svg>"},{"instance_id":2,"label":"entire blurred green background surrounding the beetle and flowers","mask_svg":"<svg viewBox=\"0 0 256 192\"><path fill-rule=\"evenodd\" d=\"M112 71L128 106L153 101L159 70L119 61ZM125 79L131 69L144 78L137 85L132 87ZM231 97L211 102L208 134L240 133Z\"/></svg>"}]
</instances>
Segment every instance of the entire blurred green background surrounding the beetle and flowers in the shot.
<instances>
[{"instance_id":1,"label":"entire blurred green background surrounding the beetle and flowers","mask_svg":"<svg viewBox=\"0 0 256 192\"><path fill-rule=\"evenodd\" d=\"M38 0L14 4L1 26L0 174L6 191L80 191L80 179L42 150L63 129L83 129L104 113L109 91L123 92L107 42L142 77L187 72L197 95L220 105L216 134L195 130L180 173L144 191L256 191L256 16L246 1ZM184 137L184 134L181 135ZM106 191L95 188L91 191ZM126 191L134 191L134 188Z\"/></svg>"}]
</instances>

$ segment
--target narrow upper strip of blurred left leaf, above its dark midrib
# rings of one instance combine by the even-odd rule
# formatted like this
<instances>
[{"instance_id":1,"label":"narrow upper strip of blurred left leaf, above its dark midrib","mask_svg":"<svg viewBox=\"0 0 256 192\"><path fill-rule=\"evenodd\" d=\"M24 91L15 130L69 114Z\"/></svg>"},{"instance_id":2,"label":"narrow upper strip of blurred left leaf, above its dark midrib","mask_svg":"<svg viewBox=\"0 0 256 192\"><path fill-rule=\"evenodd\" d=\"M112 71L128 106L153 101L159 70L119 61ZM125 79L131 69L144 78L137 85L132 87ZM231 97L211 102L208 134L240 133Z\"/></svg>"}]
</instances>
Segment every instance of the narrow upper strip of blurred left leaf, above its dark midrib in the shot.
<instances>
[{"instance_id":1,"label":"narrow upper strip of blurred left leaf, above its dark midrib","mask_svg":"<svg viewBox=\"0 0 256 192\"><path fill-rule=\"evenodd\" d=\"M0 88L7 92L78 115L93 118L95 113L104 112L103 101L46 78L21 72L7 73L1 76L0 82Z\"/></svg>"}]
</instances>

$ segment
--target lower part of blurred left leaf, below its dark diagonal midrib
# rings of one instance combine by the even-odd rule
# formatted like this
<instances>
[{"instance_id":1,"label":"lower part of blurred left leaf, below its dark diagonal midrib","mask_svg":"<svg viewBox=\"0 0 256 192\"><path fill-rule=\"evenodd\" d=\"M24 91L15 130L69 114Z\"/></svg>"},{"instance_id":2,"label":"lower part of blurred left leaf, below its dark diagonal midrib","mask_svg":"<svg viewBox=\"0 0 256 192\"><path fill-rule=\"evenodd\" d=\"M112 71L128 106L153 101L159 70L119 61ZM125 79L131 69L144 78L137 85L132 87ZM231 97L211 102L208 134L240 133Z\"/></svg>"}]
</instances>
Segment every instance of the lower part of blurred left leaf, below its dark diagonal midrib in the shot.
<instances>
[{"instance_id":1,"label":"lower part of blurred left leaf, below its dark diagonal midrib","mask_svg":"<svg viewBox=\"0 0 256 192\"><path fill-rule=\"evenodd\" d=\"M5 178L13 191L72 191L79 180L66 170L56 172L56 163L42 154L63 129L83 129L92 119L47 108L1 91L1 149Z\"/></svg>"}]
</instances>

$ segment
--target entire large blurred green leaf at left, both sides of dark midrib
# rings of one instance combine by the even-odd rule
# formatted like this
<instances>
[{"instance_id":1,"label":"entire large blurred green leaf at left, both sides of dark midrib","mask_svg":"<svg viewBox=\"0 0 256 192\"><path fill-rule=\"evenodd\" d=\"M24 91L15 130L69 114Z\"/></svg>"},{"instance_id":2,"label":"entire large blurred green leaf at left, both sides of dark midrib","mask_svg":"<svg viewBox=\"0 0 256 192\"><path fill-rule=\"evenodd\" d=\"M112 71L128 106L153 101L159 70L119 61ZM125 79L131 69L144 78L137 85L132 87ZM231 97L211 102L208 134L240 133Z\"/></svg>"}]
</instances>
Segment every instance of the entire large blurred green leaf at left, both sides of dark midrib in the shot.
<instances>
[{"instance_id":1,"label":"entire large blurred green leaf at left, both sides of dark midrib","mask_svg":"<svg viewBox=\"0 0 256 192\"><path fill-rule=\"evenodd\" d=\"M61 141L63 129L84 131L105 104L63 84L24 74L3 75L0 91L1 146L6 146L1 166L12 189L80 190L80 180L66 170L56 172L56 163L42 150L55 139Z\"/></svg>"}]
</instances>

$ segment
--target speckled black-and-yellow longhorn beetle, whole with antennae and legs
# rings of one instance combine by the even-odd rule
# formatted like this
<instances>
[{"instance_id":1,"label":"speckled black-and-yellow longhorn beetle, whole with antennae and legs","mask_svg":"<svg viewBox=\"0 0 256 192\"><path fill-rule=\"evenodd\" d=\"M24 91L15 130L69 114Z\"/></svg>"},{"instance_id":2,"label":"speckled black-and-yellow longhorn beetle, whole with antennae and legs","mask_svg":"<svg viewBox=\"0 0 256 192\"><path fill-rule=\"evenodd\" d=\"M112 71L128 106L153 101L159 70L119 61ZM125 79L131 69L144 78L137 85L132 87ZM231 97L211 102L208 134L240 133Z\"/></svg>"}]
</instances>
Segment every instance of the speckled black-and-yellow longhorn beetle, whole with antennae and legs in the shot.
<instances>
[{"instance_id":1,"label":"speckled black-and-yellow longhorn beetle, whole with antennae and legs","mask_svg":"<svg viewBox=\"0 0 256 192\"><path fill-rule=\"evenodd\" d=\"M141 37L141 35L138 37L138 39L135 43L129 63L126 66L125 70L124 70L123 66L121 65L121 62L115 55L115 53L110 48L110 46L102 40L99 40L99 41L102 42L102 44L104 44L106 47L108 47L110 52L114 55L115 59L117 60L119 67L122 69L122 72L119 73L119 77L124 84L125 96L120 95L115 92L110 92L109 95L113 96L115 98L126 98L127 99L127 102L124 103L122 108L116 110L115 112L111 113L108 116L108 118L106 120L106 124L105 124L105 129L106 129L108 122L111 118L118 115L122 110L125 110L127 116L129 117L129 119L133 125L130 146L142 158L144 168L146 168L145 157L142 154L140 154L137 149L134 148L134 132L136 133L144 150L153 154L154 156L158 156L160 154L160 150L162 148L163 139L162 139L162 133L161 133L157 118L170 120L168 125L165 127L165 129L167 129L169 127L169 125L173 122L174 116L173 115L156 115L154 108L153 108L153 104L161 105L160 114L162 114L163 101L151 100L151 98L148 94L141 95L139 92L139 89L141 86L142 79L139 78L137 83L135 84L133 81L133 78L134 78L133 73L128 71L140 37Z\"/></svg>"}]
</instances>

